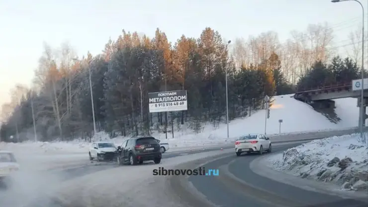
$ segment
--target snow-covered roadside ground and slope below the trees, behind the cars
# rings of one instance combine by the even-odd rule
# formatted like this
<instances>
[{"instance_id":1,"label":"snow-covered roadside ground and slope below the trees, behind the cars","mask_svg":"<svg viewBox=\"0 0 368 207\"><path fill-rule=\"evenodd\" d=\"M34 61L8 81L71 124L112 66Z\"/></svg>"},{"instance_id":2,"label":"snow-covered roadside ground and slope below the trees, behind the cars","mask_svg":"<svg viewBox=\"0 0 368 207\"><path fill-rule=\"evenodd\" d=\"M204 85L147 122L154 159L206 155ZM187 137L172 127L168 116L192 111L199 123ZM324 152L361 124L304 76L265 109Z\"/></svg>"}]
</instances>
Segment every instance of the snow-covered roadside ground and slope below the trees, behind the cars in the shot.
<instances>
[{"instance_id":1,"label":"snow-covered roadside ground and slope below the trees, behind the cars","mask_svg":"<svg viewBox=\"0 0 368 207\"><path fill-rule=\"evenodd\" d=\"M296 101L292 95L283 95L274 97L275 101L271 107L270 118L267 119L267 134L278 135L279 123L282 119L281 134L307 133L311 131L326 131L336 129L346 129L358 125L359 108L357 99L346 98L334 100L336 102L336 113L342 119L338 123L330 122L324 115L316 112L305 103ZM349 110L347 110L349 109ZM203 126L201 133L195 134L190 129L183 127L180 131L174 131L168 134L168 139L164 133L154 133L153 136L168 142L169 151L181 151L188 148L198 149L212 146L218 146L235 140L245 133L264 133L265 132L265 110L252 112L252 115L245 118L238 118L229 123L229 140L227 140L226 124L220 124L214 128L211 124ZM280 134L280 135L281 135ZM94 140L109 140L116 144L121 144L125 137L116 137L110 139L104 132L99 132ZM85 153L88 151L90 143L84 140L75 140L72 142L23 142L18 144L0 143L0 149L12 151L32 151L33 153Z\"/></svg>"}]
</instances>

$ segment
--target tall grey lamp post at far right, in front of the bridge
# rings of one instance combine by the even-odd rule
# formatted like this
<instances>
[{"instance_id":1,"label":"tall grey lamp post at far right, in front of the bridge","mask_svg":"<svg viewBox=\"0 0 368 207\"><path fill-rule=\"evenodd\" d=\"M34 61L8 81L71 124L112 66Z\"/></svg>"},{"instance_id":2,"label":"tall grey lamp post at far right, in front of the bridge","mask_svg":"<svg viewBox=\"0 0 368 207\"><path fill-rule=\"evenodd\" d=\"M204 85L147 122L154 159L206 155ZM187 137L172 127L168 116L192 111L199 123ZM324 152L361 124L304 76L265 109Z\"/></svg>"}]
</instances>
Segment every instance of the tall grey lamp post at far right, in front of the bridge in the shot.
<instances>
[{"instance_id":1,"label":"tall grey lamp post at far right, in front of the bridge","mask_svg":"<svg viewBox=\"0 0 368 207\"><path fill-rule=\"evenodd\" d=\"M366 140L363 138L363 124L365 122L365 114L364 114L364 6L359 0L331 0L333 3L342 2L342 1L357 1L362 6L363 17L362 17L362 90L361 90L361 107L360 107L360 131L361 131L361 140L365 142Z\"/></svg>"}]
</instances>

